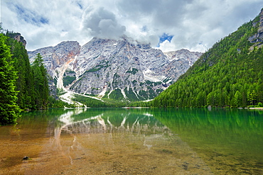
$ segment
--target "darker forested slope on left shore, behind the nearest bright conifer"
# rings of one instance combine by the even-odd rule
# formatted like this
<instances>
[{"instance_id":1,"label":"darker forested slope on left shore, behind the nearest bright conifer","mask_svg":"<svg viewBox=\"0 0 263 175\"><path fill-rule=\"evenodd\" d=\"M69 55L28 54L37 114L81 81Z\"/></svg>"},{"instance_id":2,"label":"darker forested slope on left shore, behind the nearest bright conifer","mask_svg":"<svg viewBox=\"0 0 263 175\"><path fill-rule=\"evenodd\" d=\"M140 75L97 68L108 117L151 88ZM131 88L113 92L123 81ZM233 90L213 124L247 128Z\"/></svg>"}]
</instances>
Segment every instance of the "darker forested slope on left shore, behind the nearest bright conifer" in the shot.
<instances>
[{"instance_id":1,"label":"darker forested slope on left shore, behind the nearest bright conifer","mask_svg":"<svg viewBox=\"0 0 263 175\"><path fill-rule=\"evenodd\" d=\"M10 46L11 60L14 71L17 72L16 91L18 91L18 106L22 109L45 109L48 107L48 74L43 65L41 55L29 63L27 50L23 43L14 39L19 33L6 33L7 45ZM19 34L20 35L20 34Z\"/></svg>"}]
</instances>

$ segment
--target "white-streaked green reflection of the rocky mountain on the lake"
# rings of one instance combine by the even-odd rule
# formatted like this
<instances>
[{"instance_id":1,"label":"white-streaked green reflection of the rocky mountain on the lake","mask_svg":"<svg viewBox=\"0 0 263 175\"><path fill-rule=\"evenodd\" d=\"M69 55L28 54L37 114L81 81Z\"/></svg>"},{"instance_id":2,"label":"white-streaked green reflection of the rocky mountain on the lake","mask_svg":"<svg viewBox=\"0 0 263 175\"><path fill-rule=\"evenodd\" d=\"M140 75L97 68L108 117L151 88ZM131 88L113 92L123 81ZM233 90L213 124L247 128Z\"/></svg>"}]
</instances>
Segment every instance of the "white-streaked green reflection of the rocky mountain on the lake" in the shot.
<instances>
[{"instance_id":1,"label":"white-streaked green reflection of the rocky mountain on the lake","mask_svg":"<svg viewBox=\"0 0 263 175\"><path fill-rule=\"evenodd\" d=\"M118 113L118 111L106 111L99 115L82 119L78 114L86 109L68 111L58 118L63 123L55 128L55 132L69 133L114 133L129 132L133 135L171 135L171 131L159 120L149 113ZM124 111L126 112L126 111Z\"/></svg>"}]
</instances>

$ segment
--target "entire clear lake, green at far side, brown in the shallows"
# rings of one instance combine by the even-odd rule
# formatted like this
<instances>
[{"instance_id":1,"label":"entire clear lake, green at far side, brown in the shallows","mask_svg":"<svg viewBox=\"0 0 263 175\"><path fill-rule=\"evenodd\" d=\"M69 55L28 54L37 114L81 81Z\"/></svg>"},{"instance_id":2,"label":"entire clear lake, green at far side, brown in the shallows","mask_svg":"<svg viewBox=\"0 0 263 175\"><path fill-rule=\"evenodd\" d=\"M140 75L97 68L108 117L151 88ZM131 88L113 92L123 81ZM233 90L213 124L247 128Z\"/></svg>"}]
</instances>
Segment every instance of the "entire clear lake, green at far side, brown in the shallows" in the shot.
<instances>
[{"instance_id":1,"label":"entire clear lake, green at far side, brown in the shallows","mask_svg":"<svg viewBox=\"0 0 263 175\"><path fill-rule=\"evenodd\" d=\"M0 147L0 174L263 174L263 111L33 111Z\"/></svg>"}]
</instances>

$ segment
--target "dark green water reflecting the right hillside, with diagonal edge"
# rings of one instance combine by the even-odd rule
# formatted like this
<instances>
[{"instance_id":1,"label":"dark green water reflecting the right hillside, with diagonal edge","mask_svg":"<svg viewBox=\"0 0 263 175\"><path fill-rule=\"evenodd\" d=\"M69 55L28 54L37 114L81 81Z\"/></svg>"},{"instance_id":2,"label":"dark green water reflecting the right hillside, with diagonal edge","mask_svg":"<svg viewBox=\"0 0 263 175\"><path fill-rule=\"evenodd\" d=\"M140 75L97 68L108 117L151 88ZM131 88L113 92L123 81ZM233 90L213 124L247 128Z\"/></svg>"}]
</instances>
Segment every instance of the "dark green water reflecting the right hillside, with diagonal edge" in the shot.
<instances>
[{"instance_id":1,"label":"dark green water reflecting the right hillside, with diagonal edge","mask_svg":"<svg viewBox=\"0 0 263 175\"><path fill-rule=\"evenodd\" d=\"M263 174L263 111L153 111L215 174Z\"/></svg>"}]
</instances>

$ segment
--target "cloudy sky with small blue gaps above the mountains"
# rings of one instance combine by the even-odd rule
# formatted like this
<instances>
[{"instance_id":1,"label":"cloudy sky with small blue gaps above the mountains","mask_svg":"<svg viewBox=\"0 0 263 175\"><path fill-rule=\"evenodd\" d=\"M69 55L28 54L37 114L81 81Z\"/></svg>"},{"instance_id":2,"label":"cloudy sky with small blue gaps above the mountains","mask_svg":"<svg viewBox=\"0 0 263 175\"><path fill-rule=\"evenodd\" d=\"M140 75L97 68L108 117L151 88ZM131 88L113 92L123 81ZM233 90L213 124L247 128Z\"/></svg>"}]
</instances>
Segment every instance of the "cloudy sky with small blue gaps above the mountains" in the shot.
<instances>
[{"instance_id":1,"label":"cloudy sky with small blue gaps above the mountains","mask_svg":"<svg viewBox=\"0 0 263 175\"><path fill-rule=\"evenodd\" d=\"M21 33L28 50L127 35L164 52L205 52L263 8L263 0L0 1L3 28Z\"/></svg>"}]
</instances>

